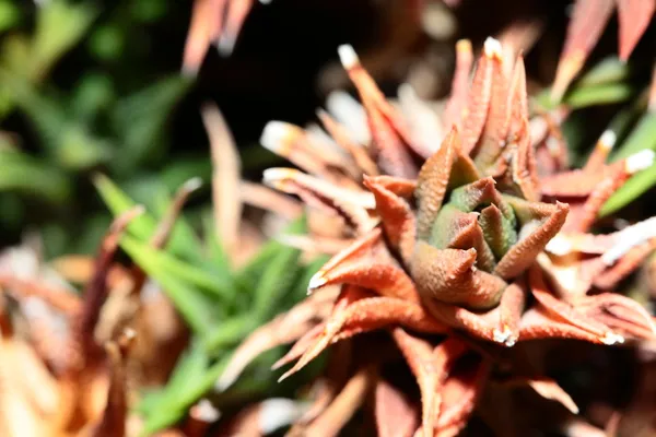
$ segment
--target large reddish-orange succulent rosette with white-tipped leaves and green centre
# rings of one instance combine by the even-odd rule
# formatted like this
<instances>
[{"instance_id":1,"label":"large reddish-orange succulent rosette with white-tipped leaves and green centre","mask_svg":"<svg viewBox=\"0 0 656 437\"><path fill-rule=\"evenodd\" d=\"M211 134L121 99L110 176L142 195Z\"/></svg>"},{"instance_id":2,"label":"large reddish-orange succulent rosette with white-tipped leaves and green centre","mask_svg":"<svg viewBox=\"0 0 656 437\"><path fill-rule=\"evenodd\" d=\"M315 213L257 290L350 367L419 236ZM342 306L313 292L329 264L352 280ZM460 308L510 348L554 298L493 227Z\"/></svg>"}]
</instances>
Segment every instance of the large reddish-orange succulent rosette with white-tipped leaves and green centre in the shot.
<instances>
[{"instance_id":1,"label":"large reddish-orange succulent rosette with white-tipped leaves and green centre","mask_svg":"<svg viewBox=\"0 0 656 437\"><path fill-rule=\"evenodd\" d=\"M611 292L654 248L654 220L591 233L604 202L654 154L606 164L613 142L606 134L581 169L540 166L522 57L505 66L501 45L489 38L470 80L470 45L459 43L457 52L453 94L433 131L445 133L438 145L409 127L349 46L339 54L362 99L368 144L358 144L326 113L333 140L321 140L324 153L300 128L270 125L265 132L266 145L312 174L270 169L265 180L301 197L311 216L333 217L340 225L331 238L347 247L312 279L305 302L243 344L221 385L273 345L296 340L278 364L296 362L284 378L332 344L386 329L421 392L417 423L417 405L400 401L408 393L376 370L386 354L376 363L354 350L355 376L317 398L306 432L326 417L341 414L343 422L373 390L380 395L380 435L455 435L497 364L481 349L539 339L610 345L656 333L640 304ZM317 158L303 161L311 151ZM317 243L325 234L319 227L315 248L326 247ZM370 382L344 394L362 373ZM531 387L571 406L555 382L542 382L549 388ZM345 410L336 412L336 403ZM406 413L390 418L384 411L393 406Z\"/></svg>"}]
</instances>

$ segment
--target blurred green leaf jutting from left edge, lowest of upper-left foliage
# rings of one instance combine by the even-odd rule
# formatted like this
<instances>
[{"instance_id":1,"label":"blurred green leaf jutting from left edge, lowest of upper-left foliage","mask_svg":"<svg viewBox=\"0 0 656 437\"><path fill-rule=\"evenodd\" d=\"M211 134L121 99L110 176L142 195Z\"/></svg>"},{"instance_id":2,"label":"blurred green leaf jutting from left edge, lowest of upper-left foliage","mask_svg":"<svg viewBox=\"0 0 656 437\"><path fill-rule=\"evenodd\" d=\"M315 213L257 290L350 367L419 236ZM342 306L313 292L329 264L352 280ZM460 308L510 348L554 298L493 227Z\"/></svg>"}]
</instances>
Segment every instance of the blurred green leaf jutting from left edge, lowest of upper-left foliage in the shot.
<instances>
[{"instance_id":1,"label":"blurred green leaf jutting from left edge, lowest of upper-left foliage","mask_svg":"<svg viewBox=\"0 0 656 437\"><path fill-rule=\"evenodd\" d=\"M15 190L54 203L67 201L70 180L59 169L14 151L0 151L0 191Z\"/></svg>"}]
</instances>

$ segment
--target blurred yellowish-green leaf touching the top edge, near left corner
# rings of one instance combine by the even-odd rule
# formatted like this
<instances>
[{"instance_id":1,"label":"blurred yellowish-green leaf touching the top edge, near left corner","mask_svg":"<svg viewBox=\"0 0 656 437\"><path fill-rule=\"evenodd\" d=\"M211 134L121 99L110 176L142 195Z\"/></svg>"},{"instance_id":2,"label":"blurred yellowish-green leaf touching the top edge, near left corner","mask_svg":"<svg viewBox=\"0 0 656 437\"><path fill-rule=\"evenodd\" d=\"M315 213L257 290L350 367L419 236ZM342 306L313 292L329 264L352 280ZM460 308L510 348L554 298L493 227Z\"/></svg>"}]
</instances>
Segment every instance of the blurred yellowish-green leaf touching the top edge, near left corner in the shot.
<instances>
[{"instance_id":1,"label":"blurred yellowish-green leaf touching the top edge, near left corner","mask_svg":"<svg viewBox=\"0 0 656 437\"><path fill-rule=\"evenodd\" d=\"M31 46L32 80L42 79L63 54L82 39L97 11L90 2L50 0L38 9Z\"/></svg>"}]
</instances>

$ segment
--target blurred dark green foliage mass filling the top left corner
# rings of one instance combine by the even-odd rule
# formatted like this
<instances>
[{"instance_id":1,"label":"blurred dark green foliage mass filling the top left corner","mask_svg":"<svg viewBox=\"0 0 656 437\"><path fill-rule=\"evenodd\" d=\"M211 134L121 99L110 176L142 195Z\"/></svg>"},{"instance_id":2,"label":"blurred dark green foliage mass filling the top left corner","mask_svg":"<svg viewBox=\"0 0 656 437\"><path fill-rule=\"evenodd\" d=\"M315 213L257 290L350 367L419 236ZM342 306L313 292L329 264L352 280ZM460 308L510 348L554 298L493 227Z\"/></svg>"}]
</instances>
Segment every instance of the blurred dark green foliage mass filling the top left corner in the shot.
<instances>
[{"instance_id":1,"label":"blurred dark green foliage mass filling the top left corner","mask_svg":"<svg viewBox=\"0 0 656 437\"><path fill-rule=\"evenodd\" d=\"M131 58L144 50L148 39L134 38L137 24L172 10L162 0L137 3L121 1L107 9L51 0L19 8L0 1L0 32L7 32L0 43L0 121L17 115L30 130L25 137L20 132L25 147L13 142L11 153L5 153L8 135L0 131L0 204L8 209L0 226L15 234L35 224L46 229L50 256L93 249L77 241L97 236L96 224L104 221L75 220L80 214L98 216L102 208L85 194L92 189L90 172L102 169L126 187L148 185L160 191L189 174L209 178L211 173L209 166L198 165L208 162L207 154L172 165L165 160L169 116L191 82L156 67L114 74L130 71ZM55 78L66 58L82 61L74 62L72 87Z\"/></svg>"}]
</instances>

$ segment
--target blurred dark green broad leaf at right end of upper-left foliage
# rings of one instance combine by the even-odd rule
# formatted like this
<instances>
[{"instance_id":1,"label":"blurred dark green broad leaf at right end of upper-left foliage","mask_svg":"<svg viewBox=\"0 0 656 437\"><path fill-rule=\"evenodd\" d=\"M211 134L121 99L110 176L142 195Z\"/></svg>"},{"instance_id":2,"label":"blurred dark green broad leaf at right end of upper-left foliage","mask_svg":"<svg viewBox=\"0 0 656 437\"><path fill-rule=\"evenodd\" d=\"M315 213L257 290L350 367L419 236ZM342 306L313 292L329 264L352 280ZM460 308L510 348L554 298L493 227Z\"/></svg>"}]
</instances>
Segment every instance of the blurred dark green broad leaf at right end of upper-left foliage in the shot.
<instances>
[{"instance_id":1,"label":"blurred dark green broad leaf at right end of upper-left foliage","mask_svg":"<svg viewBox=\"0 0 656 437\"><path fill-rule=\"evenodd\" d=\"M174 75L118 102L112 113L121 139L120 153L113 162L117 174L129 174L164 152L166 119L190 84L187 78Z\"/></svg>"}]
</instances>

